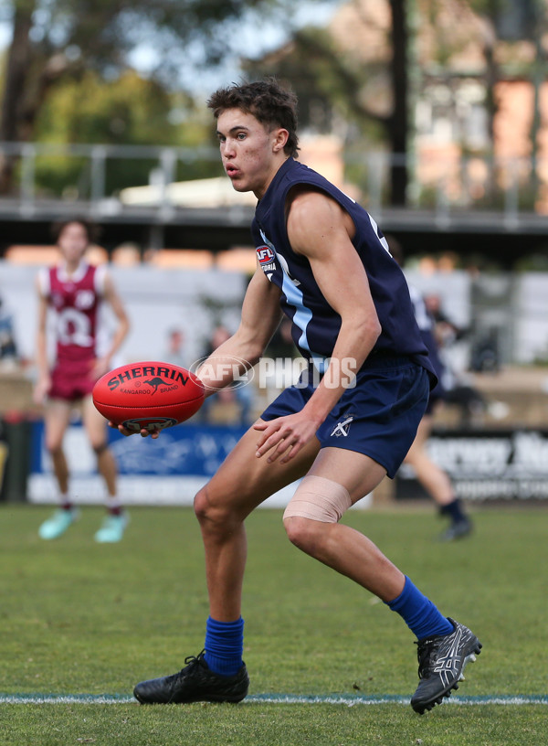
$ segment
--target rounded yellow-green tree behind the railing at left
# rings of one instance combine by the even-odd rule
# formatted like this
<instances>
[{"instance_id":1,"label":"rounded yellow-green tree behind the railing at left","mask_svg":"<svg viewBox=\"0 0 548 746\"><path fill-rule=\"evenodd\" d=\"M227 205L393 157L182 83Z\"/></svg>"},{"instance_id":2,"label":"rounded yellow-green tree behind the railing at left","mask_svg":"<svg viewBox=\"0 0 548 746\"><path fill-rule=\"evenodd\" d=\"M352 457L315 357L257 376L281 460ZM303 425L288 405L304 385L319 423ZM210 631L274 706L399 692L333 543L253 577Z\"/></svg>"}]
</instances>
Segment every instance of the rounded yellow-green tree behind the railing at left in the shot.
<instances>
[{"instance_id":1,"label":"rounded yellow-green tree behind the railing at left","mask_svg":"<svg viewBox=\"0 0 548 746\"><path fill-rule=\"evenodd\" d=\"M79 80L65 80L51 91L37 120L37 141L192 148L207 144L210 130L211 124L200 119L194 102L183 94L170 94L131 69L111 81L88 71ZM147 184L157 166L158 160L153 158L108 158L105 195ZM184 178L209 176L212 167L210 161L192 162L184 166ZM39 155L37 187L48 195L89 197L90 168L87 158ZM179 171L174 176L183 175Z\"/></svg>"}]
</instances>

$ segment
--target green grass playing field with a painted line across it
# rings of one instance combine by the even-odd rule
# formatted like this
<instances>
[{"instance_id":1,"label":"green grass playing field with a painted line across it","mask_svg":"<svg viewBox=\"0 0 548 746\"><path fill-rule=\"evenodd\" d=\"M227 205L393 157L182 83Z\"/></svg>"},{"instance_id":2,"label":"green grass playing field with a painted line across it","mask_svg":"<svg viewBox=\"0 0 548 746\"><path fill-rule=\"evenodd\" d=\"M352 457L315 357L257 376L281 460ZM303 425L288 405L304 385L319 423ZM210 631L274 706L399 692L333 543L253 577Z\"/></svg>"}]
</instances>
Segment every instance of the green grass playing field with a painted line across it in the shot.
<instances>
[{"instance_id":1,"label":"green grass playing field with a painted line across it","mask_svg":"<svg viewBox=\"0 0 548 746\"><path fill-rule=\"evenodd\" d=\"M484 645L454 701L422 717L397 699L408 700L416 687L412 634L385 604L293 548L278 510L248 519L250 698L239 705L148 708L129 701L137 681L174 673L203 646L207 603L195 517L186 508L134 508L124 541L100 546L92 538L100 508L83 508L79 523L50 543L37 538L49 512L0 507L0 744L546 742L548 512L542 507L478 509L474 535L450 545L434 540L443 524L429 506L345 517ZM300 699L260 698L284 694ZM32 703L24 695L121 700ZM319 701L307 703L305 695ZM518 696L532 703L512 703ZM359 701L368 697L382 701Z\"/></svg>"}]
</instances>

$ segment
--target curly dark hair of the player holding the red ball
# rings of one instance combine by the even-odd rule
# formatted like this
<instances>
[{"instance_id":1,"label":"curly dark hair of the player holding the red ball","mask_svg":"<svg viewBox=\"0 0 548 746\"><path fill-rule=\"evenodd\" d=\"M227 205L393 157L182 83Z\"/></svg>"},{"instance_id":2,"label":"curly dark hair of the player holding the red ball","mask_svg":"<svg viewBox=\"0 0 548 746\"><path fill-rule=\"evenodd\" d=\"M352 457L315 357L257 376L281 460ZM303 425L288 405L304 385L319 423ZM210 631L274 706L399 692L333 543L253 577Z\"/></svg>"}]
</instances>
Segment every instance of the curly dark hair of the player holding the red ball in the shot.
<instances>
[{"instance_id":1,"label":"curly dark hair of the player holding the red ball","mask_svg":"<svg viewBox=\"0 0 548 746\"><path fill-rule=\"evenodd\" d=\"M290 133L284 153L297 157L297 96L282 88L274 78L219 88L207 101L207 107L213 110L216 119L227 109L239 109L252 114L261 124L282 127Z\"/></svg>"}]
</instances>

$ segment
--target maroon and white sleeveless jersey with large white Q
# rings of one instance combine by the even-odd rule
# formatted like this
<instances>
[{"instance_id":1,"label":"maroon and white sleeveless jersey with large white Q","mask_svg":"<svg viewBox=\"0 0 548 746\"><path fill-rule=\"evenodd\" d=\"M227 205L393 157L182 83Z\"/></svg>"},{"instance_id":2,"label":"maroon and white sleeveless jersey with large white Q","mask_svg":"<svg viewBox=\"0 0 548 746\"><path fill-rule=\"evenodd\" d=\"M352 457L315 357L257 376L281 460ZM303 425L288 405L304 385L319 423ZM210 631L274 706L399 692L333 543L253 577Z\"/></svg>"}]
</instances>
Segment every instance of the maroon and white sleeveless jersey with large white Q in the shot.
<instances>
[{"instance_id":1,"label":"maroon and white sleeveless jersey with large white Q","mask_svg":"<svg viewBox=\"0 0 548 746\"><path fill-rule=\"evenodd\" d=\"M98 312L104 294L104 267L81 261L68 275L64 265L38 275L40 293L56 312L57 363L96 357Z\"/></svg>"}]
</instances>

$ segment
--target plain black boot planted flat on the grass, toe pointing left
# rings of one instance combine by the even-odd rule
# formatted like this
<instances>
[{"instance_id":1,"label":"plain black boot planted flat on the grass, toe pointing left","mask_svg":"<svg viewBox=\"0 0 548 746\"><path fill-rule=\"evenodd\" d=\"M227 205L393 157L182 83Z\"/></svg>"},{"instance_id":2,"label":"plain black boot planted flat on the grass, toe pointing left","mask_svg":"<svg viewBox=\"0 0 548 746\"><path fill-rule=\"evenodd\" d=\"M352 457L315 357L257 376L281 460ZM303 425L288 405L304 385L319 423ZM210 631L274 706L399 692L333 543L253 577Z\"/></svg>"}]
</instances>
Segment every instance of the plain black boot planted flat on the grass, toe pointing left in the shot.
<instances>
[{"instance_id":1,"label":"plain black boot planted flat on the grass, toe pointing left","mask_svg":"<svg viewBox=\"0 0 548 746\"><path fill-rule=\"evenodd\" d=\"M187 664L173 676L151 678L133 689L142 705L169 705L182 702L239 702L248 694L248 669L243 664L237 674L220 676L209 670L205 651L184 658Z\"/></svg>"}]
</instances>

